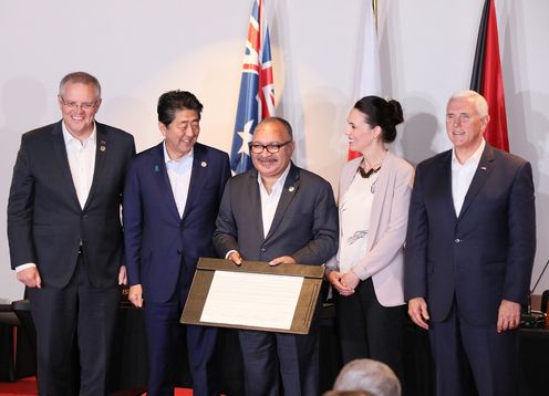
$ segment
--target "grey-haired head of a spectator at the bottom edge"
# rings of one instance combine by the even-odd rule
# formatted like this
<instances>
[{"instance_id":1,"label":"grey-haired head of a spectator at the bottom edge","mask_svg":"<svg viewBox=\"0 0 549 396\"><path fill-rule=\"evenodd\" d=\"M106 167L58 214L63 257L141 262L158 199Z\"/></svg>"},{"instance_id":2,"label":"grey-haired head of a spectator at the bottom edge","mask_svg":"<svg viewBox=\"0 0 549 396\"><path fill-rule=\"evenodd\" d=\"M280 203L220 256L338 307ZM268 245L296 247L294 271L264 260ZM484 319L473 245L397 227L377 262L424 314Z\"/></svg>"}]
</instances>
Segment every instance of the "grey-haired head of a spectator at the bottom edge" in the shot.
<instances>
[{"instance_id":1,"label":"grey-haired head of a spectator at the bottom edge","mask_svg":"<svg viewBox=\"0 0 549 396\"><path fill-rule=\"evenodd\" d=\"M401 396L401 383L386 364L370 358L359 358L343 366L335 390L365 390L375 396Z\"/></svg>"}]
</instances>

